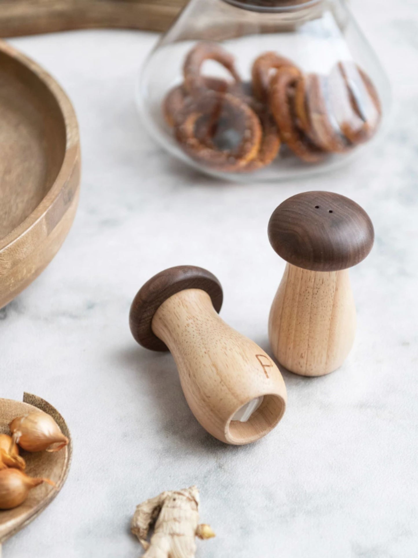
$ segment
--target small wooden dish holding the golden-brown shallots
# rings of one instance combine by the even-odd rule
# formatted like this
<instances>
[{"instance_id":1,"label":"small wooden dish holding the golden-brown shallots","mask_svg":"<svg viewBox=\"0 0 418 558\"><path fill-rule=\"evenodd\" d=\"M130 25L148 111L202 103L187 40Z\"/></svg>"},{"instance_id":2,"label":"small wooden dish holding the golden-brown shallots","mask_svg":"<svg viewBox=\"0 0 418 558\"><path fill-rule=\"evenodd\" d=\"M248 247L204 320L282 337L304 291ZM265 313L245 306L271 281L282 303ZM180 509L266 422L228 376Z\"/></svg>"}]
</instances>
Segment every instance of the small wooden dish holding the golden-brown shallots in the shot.
<instances>
[{"instance_id":1,"label":"small wooden dish holding the golden-brown shallots","mask_svg":"<svg viewBox=\"0 0 418 558\"><path fill-rule=\"evenodd\" d=\"M23 402L0 399L0 433L9 434L9 422L15 417L40 409L51 415L59 425L62 433L70 440L69 444L55 453L40 451L28 453L21 451L26 460L26 473L30 477L46 477L56 483L56 488L47 484L31 490L28 498L21 506L0 511L0 549L3 542L26 527L43 509L59 494L69 473L71 464L72 442L70 431L60 413L40 397L25 393Z\"/></svg>"}]
</instances>

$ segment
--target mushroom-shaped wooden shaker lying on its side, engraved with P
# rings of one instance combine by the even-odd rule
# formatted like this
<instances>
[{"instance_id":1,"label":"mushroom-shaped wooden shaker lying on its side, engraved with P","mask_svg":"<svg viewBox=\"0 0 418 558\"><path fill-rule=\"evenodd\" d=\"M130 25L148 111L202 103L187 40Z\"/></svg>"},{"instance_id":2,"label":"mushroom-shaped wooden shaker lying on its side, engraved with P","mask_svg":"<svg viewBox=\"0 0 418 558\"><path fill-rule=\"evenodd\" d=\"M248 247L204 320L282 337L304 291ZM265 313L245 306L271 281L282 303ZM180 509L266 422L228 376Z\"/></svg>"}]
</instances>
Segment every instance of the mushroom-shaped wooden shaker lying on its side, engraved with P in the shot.
<instances>
[{"instance_id":1,"label":"mushroom-shaped wooden shaker lying on its side, engraved with P","mask_svg":"<svg viewBox=\"0 0 418 558\"><path fill-rule=\"evenodd\" d=\"M248 444L278 424L286 388L264 350L218 316L222 298L212 273L172 267L139 290L130 330L143 347L171 351L188 405L212 436Z\"/></svg>"}]
</instances>

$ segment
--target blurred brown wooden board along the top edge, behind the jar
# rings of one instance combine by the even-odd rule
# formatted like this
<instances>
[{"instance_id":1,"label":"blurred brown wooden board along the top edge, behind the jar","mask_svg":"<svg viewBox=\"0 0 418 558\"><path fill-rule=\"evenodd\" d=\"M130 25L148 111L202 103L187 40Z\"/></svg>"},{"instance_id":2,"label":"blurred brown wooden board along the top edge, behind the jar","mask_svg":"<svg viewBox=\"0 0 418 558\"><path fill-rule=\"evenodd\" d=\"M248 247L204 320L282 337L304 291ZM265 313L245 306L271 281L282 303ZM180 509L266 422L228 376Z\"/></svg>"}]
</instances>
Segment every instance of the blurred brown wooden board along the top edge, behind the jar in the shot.
<instances>
[{"instance_id":1,"label":"blurred brown wooden board along the top edge, behind the jar","mask_svg":"<svg viewBox=\"0 0 418 558\"><path fill-rule=\"evenodd\" d=\"M90 27L166 31L187 0L0 0L0 37Z\"/></svg>"}]
</instances>

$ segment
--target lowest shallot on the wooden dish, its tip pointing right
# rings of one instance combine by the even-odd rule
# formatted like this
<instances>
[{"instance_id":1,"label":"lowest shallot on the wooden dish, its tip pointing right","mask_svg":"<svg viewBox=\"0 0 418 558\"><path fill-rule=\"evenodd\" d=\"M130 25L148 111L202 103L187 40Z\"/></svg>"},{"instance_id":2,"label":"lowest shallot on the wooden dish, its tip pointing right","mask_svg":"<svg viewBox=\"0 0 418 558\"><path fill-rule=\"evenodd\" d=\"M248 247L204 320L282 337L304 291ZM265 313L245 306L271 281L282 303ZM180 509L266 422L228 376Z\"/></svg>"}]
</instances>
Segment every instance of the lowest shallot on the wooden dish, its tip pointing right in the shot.
<instances>
[{"instance_id":1,"label":"lowest shallot on the wooden dish, its tip pointing right","mask_svg":"<svg viewBox=\"0 0 418 558\"><path fill-rule=\"evenodd\" d=\"M46 482L55 486L49 479L28 477L18 469L0 471L0 509L13 509L25 502L32 488Z\"/></svg>"}]
</instances>

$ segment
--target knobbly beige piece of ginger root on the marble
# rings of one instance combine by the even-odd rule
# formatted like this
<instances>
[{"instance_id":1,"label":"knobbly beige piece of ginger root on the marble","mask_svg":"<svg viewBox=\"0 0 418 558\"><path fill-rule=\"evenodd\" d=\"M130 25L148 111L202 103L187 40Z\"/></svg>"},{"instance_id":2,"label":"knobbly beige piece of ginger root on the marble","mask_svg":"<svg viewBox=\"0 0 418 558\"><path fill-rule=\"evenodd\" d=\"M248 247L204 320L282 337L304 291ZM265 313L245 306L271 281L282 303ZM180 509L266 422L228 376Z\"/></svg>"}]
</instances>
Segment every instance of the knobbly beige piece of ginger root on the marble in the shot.
<instances>
[{"instance_id":1,"label":"knobbly beige piece of ginger root on the marble","mask_svg":"<svg viewBox=\"0 0 418 558\"><path fill-rule=\"evenodd\" d=\"M139 504L131 530L146 550L143 558L194 558L195 537L215 536L209 525L199 522L199 491L193 486L162 492ZM149 527L154 526L150 542Z\"/></svg>"}]
</instances>

